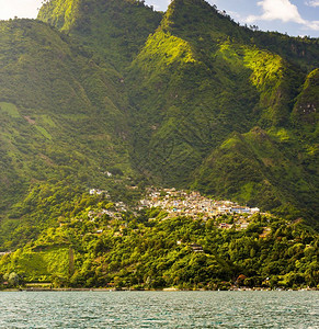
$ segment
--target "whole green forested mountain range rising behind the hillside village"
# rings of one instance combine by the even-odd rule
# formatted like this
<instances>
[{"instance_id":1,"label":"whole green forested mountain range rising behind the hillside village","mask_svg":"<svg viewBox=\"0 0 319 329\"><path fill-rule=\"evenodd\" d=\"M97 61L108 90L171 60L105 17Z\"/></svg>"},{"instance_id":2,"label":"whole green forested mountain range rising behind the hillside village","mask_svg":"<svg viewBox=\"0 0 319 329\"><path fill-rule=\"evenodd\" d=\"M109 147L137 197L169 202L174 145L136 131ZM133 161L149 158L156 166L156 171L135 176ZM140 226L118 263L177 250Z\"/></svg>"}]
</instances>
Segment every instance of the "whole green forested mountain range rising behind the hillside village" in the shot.
<instances>
[{"instance_id":1,"label":"whole green forested mountain range rising behind the hillside village","mask_svg":"<svg viewBox=\"0 0 319 329\"><path fill-rule=\"evenodd\" d=\"M318 227L318 44L204 0L50 0L0 22L1 249L84 214L92 188L197 190Z\"/></svg>"}]
</instances>

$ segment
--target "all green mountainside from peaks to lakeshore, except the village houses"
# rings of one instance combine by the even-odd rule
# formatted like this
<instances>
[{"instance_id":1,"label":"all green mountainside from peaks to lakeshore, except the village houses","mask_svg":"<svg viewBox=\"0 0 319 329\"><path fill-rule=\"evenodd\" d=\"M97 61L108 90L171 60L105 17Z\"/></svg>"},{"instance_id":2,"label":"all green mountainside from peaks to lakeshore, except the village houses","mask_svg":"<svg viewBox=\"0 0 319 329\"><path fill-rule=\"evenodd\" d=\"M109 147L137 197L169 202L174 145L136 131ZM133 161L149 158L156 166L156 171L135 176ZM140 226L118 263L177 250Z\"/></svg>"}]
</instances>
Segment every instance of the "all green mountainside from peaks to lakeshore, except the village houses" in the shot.
<instances>
[{"instance_id":1,"label":"all green mountainside from peaks to lakeshore, except the village houses","mask_svg":"<svg viewBox=\"0 0 319 329\"><path fill-rule=\"evenodd\" d=\"M319 225L318 58L318 39L239 26L203 0L164 14L50 0L38 20L0 22L2 281L317 285L318 236L300 223ZM277 217L248 230L157 211L88 219L112 208L89 189L134 205L147 184Z\"/></svg>"}]
</instances>

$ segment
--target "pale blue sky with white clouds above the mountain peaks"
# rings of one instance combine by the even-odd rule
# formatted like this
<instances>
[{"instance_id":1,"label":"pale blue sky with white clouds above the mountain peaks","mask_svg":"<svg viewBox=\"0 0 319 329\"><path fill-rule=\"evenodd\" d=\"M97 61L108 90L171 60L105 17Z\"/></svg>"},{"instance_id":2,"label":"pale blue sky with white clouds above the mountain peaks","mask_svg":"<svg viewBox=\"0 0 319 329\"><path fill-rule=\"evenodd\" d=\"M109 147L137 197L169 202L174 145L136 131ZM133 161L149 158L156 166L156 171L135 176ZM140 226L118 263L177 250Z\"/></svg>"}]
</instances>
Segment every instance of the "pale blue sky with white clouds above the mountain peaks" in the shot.
<instances>
[{"instance_id":1,"label":"pale blue sky with white clouds above the mountain peaks","mask_svg":"<svg viewBox=\"0 0 319 329\"><path fill-rule=\"evenodd\" d=\"M0 20L36 18L43 0L0 0ZM166 11L170 0L146 0ZM262 31L319 37L319 0L208 0L236 22L258 25Z\"/></svg>"}]
</instances>

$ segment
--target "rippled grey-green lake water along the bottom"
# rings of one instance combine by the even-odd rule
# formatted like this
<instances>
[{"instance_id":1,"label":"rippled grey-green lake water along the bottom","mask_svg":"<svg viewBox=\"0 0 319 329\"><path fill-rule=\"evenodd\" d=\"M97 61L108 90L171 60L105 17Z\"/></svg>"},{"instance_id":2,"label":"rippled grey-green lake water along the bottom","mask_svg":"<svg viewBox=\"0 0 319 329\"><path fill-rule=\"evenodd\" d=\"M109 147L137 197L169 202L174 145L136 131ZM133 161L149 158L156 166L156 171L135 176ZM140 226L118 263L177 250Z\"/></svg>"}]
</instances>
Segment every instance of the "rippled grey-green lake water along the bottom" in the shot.
<instances>
[{"instance_id":1,"label":"rippled grey-green lake water along the bottom","mask_svg":"<svg viewBox=\"0 0 319 329\"><path fill-rule=\"evenodd\" d=\"M0 328L319 328L319 292L0 292Z\"/></svg>"}]
</instances>

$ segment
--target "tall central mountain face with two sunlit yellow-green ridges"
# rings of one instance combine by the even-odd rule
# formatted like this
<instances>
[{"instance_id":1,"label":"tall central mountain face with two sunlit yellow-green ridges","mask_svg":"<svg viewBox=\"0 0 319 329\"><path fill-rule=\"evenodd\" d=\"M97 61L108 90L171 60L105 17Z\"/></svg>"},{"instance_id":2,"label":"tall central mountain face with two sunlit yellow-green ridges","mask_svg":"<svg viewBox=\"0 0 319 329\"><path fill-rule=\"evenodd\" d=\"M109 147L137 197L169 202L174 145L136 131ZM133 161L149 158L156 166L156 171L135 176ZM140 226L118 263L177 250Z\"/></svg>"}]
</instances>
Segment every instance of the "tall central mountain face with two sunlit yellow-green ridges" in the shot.
<instances>
[{"instance_id":1,"label":"tall central mountain face with two sunlit yellow-green ridges","mask_svg":"<svg viewBox=\"0 0 319 329\"><path fill-rule=\"evenodd\" d=\"M150 136L149 141L146 141L144 137L144 144L140 147L137 146L138 166L144 163L140 157L144 152L146 167L143 170L152 170L153 174L162 178L171 173L171 177L164 178L163 182L176 185L190 181L194 174L192 167L195 168L204 161L209 148L214 149L220 145L229 133L248 133L249 129L259 125L263 129L292 127L293 100L297 97L305 79L305 73L297 67L297 64L288 63L269 50L252 47L249 38L246 38L247 44L241 37L230 39L227 34L224 34L224 38L220 39L220 31L216 38L215 25L212 32L209 26L206 26L207 24L204 32L201 29L197 31L193 27L193 21L198 21L200 16L202 22L206 20L203 14L207 3L186 2L190 2L191 7L184 5L184 1L171 3L159 30L150 35L145 48L133 61L132 71L132 84L141 87L140 92L130 95L130 99L137 99L137 104L134 104L133 109L143 106L141 109L146 111L136 111L138 117L136 121L144 122L143 135ZM200 9L195 10L192 5ZM192 15L195 19L192 19ZM207 22L212 21L212 18L219 19L214 8L210 8L207 14ZM228 22L224 16L220 20ZM176 24L175 21L179 23ZM232 25L237 26L235 23ZM244 31L243 27L237 26L237 29ZM207 33L212 33L213 36L207 36ZM182 37L184 35L186 37ZM204 56L203 35L206 35L208 39L210 37L212 41L209 50ZM205 44L207 43L208 41ZM171 71L178 73L172 75ZM194 77L193 71L196 71L197 78ZM139 75L140 80L137 79ZM174 79L178 82L174 82ZM182 89L183 86L185 90ZM133 90L136 92L136 88ZM180 101L180 92L184 98L182 101ZM210 95L213 92L216 93L215 99ZM140 99L143 101L139 101ZM186 112L186 109L193 113ZM220 118L216 115L220 115ZM189 122L187 117L190 117ZM193 125L192 122L200 121L201 117L202 121L198 124L201 131L196 132L196 124ZM143 129L143 127L138 126L137 129ZM192 135L187 140L190 132ZM147 146L148 143L149 146ZM160 147L162 150L159 155ZM164 158L161 160L160 156ZM150 168L151 166L153 169ZM265 169L262 171L263 174L267 172L271 179L273 173ZM287 172L282 172L282 174L287 174ZM249 181L248 177L247 180ZM310 182L311 178L308 178L307 184L311 184ZM223 182L218 184L223 186ZM239 189L236 181L231 184ZM196 183L194 186L198 188L201 184ZM204 186L203 189L205 191ZM311 191L314 191L312 188ZM277 189L276 193L282 194ZM271 194L270 198L274 197L275 193ZM232 197L237 197L236 194L232 194ZM255 200L246 200L246 202L253 203Z\"/></svg>"}]
</instances>

